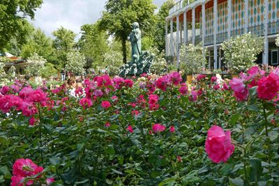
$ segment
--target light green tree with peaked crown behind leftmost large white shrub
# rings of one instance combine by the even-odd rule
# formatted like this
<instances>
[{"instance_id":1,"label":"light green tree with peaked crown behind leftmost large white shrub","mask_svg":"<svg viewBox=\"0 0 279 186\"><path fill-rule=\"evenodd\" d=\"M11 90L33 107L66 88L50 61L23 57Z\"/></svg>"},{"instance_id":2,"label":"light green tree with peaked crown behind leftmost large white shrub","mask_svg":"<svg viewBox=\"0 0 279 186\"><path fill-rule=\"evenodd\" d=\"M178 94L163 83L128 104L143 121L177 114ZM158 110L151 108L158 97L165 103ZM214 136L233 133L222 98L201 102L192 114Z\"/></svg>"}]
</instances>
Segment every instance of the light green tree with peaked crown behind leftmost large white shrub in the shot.
<instances>
[{"instance_id":1,"label":"light green tree with peaked crown behind leftmost large white shrub","mask_svg":"<svg viewBox=\"0 0 279 186\"><path fill-rule=\"evenodd\" d=\"M36 53L39 56L43 56L47 61L54 63L55 51L52 42L53 40L47 37L43 31L36 29L29 37L27 43L23 45L21 56L27 59L33 55L33 53Z\"/></svg>"}]
</instances>

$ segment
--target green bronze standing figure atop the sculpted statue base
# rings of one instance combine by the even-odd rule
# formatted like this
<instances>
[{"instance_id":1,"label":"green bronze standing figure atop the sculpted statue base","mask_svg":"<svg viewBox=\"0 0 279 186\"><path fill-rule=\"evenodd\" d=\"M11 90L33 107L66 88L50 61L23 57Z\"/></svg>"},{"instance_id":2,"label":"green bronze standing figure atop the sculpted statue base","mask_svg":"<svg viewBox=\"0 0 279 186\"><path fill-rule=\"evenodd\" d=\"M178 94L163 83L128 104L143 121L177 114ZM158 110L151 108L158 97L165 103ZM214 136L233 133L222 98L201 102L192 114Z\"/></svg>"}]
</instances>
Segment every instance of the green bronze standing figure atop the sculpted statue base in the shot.
<instances>
[{"instance_id":1,"label":"green bronze standing figure atop the sculpted statue base","mask_svg":"<svg viewBox=\"0 0 279 186\"><path fill-rule=\"evenodd\" d=\"M130 33L128 40L132 45L132 56L137 55L137 61L140 59L142 54L142 31L140 31L140 25L137 22L132 24L133 31Z\"/></svg>"}]
</instances>

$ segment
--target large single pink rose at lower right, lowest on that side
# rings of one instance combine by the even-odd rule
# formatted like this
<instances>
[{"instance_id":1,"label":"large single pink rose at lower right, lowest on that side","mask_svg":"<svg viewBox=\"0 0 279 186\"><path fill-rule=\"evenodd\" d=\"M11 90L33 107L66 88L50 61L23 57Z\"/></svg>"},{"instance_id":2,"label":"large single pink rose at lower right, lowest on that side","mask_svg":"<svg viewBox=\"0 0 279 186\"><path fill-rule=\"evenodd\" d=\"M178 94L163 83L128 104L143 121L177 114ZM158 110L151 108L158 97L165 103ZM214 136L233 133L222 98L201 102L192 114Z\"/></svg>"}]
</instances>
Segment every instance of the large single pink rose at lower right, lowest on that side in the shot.
<instances>
[{"instance_id":1,"label":"large single pink rose at lower right, lowest on that side","mask_svg":"<svg viewBox=\"0 0 279 186\"><path fill-rule=\"evenodd\" d=\"M227 162L234 152L231 132L224 132L223 128L213 125L207 132L205 150L212 162Z\"/></svg>"}]
</instances>

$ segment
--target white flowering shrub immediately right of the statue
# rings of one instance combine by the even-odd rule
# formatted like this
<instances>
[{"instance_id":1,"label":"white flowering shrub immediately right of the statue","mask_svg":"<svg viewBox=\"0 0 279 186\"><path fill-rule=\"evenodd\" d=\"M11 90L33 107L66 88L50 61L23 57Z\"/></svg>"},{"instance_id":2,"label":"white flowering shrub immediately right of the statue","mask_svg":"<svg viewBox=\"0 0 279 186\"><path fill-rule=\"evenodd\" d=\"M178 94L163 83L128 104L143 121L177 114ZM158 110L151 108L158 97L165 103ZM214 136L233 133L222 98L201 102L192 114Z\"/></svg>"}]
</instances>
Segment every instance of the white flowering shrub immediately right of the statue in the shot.
<instances>
[{"instance_id":1,"label":"white flowering shrub immediately right of the statue","mask_svg":"<svg viewBox=\"0 0 279 186\"><path fill-rule=\"evenodd\" d=\"M153 63L150 68L151 74L163 75L167 72L167 61L164 58L164 52L160 52L156 48L151 48L149 51L154 54Z\"/></svg>"}]
</instances>

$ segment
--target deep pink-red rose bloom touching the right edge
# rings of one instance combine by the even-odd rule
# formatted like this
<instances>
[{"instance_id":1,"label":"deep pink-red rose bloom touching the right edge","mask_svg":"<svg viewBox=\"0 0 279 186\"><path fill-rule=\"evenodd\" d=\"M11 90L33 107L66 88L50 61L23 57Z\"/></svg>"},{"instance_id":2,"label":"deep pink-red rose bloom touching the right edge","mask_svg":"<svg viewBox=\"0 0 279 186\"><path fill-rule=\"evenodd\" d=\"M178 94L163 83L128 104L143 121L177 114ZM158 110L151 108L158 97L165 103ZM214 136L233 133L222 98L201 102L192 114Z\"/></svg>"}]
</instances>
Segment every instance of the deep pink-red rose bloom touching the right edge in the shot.
<instances>
[{"instance_id":1,"label":"deep pink-red rose bloom touching the right edge","mask_svg":"<svg viewBox=\"0 0 279 186\"><path fill-rule=\"evenodd\" d=\"M279 91L279 77L271 72L268 77L262 77L257 82L258 97L263 100L272 100Z\"/></svg>"}]
</instances>

